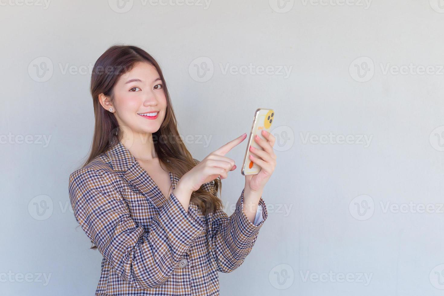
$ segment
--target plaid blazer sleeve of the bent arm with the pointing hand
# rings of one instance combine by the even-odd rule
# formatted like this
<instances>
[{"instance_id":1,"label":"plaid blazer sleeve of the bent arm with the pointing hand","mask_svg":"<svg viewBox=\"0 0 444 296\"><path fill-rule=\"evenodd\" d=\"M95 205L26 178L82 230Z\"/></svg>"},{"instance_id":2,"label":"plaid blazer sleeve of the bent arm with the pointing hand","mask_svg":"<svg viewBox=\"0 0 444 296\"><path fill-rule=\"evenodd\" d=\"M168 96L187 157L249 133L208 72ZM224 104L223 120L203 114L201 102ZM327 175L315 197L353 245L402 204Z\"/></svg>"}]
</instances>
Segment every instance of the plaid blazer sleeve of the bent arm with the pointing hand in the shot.
<instances>
[{"instance_id":1,"label":"plaid blazer sleeve of the bent arm with the pointing hand","mask_svg":"<svg viewBox=\"0 0 444 296\"><path fill-rule=\"evenodd\" d=\"M162 285L174 272L205 222L185 211L170 193L149 231L136 225L116 179L104 170L86 170L69 177L74 216L119 276L137 288Z\"/></svg>"}]
</instances>

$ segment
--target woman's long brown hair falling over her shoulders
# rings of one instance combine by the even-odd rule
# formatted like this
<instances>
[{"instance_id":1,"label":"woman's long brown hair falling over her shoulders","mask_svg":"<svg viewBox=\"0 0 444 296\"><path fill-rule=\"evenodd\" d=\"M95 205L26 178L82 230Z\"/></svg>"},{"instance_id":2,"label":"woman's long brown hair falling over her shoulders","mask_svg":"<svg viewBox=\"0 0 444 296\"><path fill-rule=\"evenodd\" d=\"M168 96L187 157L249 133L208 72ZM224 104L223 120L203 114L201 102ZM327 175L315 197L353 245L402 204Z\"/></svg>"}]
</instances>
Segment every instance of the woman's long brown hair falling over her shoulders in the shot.
<instances>
[{"instance_id":1,"label":"woman's long brown hair falling over her shoulders","mask_svg":"<svg viewBox=\"0 0 444 296\"><path fill-rule=\"evenodd\" d=\"M119 128L115 115L107 112L99 103L99 95L103 93L110 102L114 103L114 86L124 73L131 71L136 63L146 62L153 65L163 82L163 91L166 96L166 114L159 130L153 133L153 142L160 166L164 170L174 172L181 178L191 170L196 163L186 149L177 130L177 120L171 104L170 95L165 79L156 60L146 51L132 45L113 45L109 47L94 64L91 75L90 91L94 106L95 126L91 144L91 152L87 161L81 166L87 166L94 158L110 149L115 144L115 138L121 139L123 131ZM158 141L165 137L172 137L173 141ZM220 178L214 180L215 191L222 190ZM170 187L171 189L171 187ZM217 209L222 209L222 201L213 193L199 188L191 193L190 201L199 206L202 213L207 215ZM91 249L96 249L92 247Z\"/></svg>"}]
</instances>

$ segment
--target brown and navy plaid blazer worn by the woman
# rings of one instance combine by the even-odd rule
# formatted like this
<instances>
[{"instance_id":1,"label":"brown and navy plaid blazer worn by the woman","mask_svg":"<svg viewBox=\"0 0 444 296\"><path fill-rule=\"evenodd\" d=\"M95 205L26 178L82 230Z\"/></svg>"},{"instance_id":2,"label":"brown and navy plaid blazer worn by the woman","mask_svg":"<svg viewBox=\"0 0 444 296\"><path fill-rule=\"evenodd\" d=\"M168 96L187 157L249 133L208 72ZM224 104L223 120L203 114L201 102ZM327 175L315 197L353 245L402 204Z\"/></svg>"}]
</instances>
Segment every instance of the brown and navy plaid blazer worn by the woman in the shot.
<instances>
[{"instance_id":1,"label":"brown and navy plaid blazer worn by the woman","mask_svg":"<svg viewBox=\"0 0 444 296\"><path fill-rule=\"evenodd\" d=\"M179 178L169 174L174 189ZM217 196L213 181L202 186ZM261 197L262 221L251 223L243 193L230 217L205 217L193 202L186 212L117 141L69 176L75 219L103 255L95 295L219 295L218 271L244 262L268 215Z\"/></svg>"}]
</instances>

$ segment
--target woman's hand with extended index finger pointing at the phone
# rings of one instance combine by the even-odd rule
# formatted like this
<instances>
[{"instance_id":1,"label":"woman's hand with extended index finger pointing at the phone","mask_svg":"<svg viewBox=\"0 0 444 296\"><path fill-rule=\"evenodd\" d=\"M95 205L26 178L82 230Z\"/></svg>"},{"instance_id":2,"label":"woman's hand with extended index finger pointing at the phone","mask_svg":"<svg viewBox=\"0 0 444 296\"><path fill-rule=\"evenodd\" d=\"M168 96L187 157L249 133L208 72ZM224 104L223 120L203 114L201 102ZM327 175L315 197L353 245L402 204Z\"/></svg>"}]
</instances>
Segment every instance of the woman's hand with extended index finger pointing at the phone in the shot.
<instances>
[{"instance_id":1,"label":"woman's hand with extended index finger pointing at the phone","mask_svg":"<svg viewBox=\"0 0 444 296\"><path fill-rule=\"evenodd\" d=\"M218 150L208 154L194 168L182 176L179 182L190 191L196 191L207 182L213 181L220 176L221 179L228 177L228 172L235 170L234 160L225 156L231 149L245 140L246 134L226 143Z\"/></svg>"}]
</instances>

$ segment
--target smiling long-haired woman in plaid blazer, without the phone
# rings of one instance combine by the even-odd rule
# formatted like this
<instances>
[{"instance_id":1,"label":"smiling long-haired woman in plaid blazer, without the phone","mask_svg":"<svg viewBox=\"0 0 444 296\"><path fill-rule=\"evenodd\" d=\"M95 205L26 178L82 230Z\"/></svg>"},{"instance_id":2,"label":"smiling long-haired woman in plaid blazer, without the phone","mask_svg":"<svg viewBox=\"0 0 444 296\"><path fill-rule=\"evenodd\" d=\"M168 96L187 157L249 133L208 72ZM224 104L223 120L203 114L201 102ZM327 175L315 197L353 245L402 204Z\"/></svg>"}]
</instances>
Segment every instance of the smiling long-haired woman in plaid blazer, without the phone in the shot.
<instances>
[{"instance_id":1,"label":"smiling long-haired woman in plaid blazer, without the phone","mask_svg":"<svg viewBox=\"0 0 444 296\"><path fill-rule=\"evenodd\" d=\"M91 76L95 130L87 162L69 176L79 225L103 255L95 295L219 295L218 271L238 268L267 218L262 190L276 165L275 138L255 139L261 166L228 217L217 197L236 168L225 154L194 159L179 137L159 64L115 45ZM172 188L172 190L171 190Z\"/></svg>"}]
</instances>

